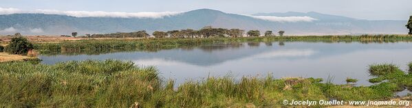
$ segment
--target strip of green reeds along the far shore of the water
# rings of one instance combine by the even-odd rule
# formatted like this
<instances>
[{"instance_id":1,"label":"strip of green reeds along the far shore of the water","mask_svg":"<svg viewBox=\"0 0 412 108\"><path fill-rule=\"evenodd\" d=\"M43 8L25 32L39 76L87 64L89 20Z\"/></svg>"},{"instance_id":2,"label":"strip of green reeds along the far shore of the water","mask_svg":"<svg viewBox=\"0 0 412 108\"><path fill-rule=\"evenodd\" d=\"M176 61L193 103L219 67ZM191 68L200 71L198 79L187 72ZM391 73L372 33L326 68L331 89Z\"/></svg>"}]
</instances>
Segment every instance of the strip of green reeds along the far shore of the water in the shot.
<instances>
[{"instance_id":1,"label":"strip of green reeds along the far shore of the water","mask_svg":"<svg viewBox=\"0 0 412 108\"><path fill-rule=\"evenodd\" d=\"M283 36L283 37L246 37L246 38L150 38L150 39L111 39L111 40L75 40L46 42L35 44L35 49L42 54L79 53L98 54L117 51L157 51L181 46L200 44L227 44L230 42L412 42L412 36L376 35L376 36Z\"/></svg>"}]
</instances>

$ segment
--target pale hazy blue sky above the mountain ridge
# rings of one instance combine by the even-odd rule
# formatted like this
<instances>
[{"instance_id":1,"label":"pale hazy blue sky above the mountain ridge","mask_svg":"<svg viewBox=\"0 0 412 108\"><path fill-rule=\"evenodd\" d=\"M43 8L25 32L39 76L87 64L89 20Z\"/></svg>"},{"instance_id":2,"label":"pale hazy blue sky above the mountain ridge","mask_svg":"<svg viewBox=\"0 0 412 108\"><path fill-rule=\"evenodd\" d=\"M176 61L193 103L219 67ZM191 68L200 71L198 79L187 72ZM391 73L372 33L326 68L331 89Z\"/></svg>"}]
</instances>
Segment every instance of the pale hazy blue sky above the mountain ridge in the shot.
<instances>
[{"instance_id":1,"label":"pale hazy blue sky above the mountain ridge","mask_svg":"<svg viewBox=\"0 0 412 108\"><path fill-rule=\"evenodd\" d=\"M321 12L369 20L402 20L412 0L0 0L0 8L21 10L183 12L209 8L235 14Z\"/></svg>"}]
</instances>

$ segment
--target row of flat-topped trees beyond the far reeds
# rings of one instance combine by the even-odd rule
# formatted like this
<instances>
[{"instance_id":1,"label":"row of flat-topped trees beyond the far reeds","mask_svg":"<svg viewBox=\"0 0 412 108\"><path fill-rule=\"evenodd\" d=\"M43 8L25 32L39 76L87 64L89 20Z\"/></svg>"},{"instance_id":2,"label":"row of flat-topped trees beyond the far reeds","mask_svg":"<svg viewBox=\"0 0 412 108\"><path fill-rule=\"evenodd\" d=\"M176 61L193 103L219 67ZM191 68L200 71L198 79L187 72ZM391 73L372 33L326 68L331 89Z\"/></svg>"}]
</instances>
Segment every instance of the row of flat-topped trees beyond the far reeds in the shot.
<instances>
[{"instance_id":1,"label":"row of flat-topped trees beyond the far reeds","mask_svg":"<svg viewBox=\"0 0 412 108\"><path fill-rule=\"evenodd\" d=\"M283 36L285 31L279 31L279 36ZM275 36L273 31L265 31L263 36ZM212 38L212 37L230 37L237 38L243 37L244 35L248 37L259 37L261 32L259 30L250 30L245 34L243 29L224 29L224 28L213 28L213 27L203 27L202 29L181 29L181 30L171 30L171 31L154 31L152 36L155 38ZM106 34L86 34L87 38L149 38L151 35L147 31L135 31L131 33L106 33Z\"/></svg>"}]
</instances>

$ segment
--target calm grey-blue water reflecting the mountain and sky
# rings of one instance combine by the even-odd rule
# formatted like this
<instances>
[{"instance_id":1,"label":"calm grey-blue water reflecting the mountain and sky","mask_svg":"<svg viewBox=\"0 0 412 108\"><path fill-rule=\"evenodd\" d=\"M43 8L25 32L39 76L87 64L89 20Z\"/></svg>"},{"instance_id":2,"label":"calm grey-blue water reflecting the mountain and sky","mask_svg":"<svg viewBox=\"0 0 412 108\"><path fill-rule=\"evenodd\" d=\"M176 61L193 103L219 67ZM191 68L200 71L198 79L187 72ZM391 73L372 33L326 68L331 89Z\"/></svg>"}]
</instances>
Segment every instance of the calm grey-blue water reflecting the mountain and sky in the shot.
<instances>
[{"instance_id":1,"label":"calm grey-blue water reflecting the mountain and sky","mask_svg":"<svg viewBox=\"0 0 412 108\"><path fill-rule=\"evenodd\" d=\"M177 83L208 76L334 77L346 83L347 77L359 79L358 85L371 85L369 64L392 63L406 70L412 61L412 43L322 43L272 42L238 45L204 45L157 52L122 52L100 55L41 56L43 64L69 60L121 59L139 66L157 66L162 77Z\"/></svg>"}]
</instances>

